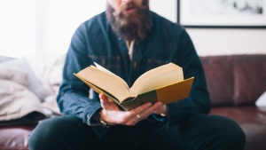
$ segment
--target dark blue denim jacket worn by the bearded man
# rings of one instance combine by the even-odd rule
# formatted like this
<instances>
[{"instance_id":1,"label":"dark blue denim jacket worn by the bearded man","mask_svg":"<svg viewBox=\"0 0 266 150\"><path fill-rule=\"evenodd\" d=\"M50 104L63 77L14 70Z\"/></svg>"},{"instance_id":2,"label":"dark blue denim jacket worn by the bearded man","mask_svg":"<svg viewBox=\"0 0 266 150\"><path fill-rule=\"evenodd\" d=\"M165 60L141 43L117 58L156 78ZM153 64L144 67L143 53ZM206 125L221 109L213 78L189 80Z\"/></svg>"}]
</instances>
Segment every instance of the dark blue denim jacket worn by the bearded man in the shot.
<instances>
[{"instance_id":1,"label":"dark blue denim jacket worn by the bearded man","mask_svg":"<svg viewBox=\"0 0 266 150\"><path fill-rule=\"evenodd\" d=\"M136 39L131 60L125 40L113 33L105 12L83 22L74 32L66 54L58 104L63 114L81 118L99 137L109 129L94 126L91 120L101 108L98 94L94 93L90 99L90 87L73 75L93 62L121 76L129 87L146 71L173 62L183 67L184 78L194 76L194 83L187 99L168 104L168 124L209 112L205 75L190 36L176 23L151 14L153 27L144 40Z\"/></svg>"}]
</instances>

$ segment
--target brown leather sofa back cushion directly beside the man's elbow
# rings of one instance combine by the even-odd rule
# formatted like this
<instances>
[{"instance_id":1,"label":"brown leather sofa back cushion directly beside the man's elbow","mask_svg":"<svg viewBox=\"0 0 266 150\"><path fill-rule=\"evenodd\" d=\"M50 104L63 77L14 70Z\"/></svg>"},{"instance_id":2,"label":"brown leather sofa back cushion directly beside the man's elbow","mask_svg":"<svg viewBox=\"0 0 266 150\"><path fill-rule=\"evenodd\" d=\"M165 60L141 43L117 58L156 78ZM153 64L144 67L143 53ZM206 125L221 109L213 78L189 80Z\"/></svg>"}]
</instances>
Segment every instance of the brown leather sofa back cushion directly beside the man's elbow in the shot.
<instances>
[{"instance_id":1,"label":"brown leather sofa back cushion directly beside the man's elbow","mask_svg":"<svg viewBox=\"0 0 266 150\"><path fill-rule=\"evenodd\" d=\"M233 79L231 57L200 57L212 106L232 105Z\"/></svg>"}]
</instances>

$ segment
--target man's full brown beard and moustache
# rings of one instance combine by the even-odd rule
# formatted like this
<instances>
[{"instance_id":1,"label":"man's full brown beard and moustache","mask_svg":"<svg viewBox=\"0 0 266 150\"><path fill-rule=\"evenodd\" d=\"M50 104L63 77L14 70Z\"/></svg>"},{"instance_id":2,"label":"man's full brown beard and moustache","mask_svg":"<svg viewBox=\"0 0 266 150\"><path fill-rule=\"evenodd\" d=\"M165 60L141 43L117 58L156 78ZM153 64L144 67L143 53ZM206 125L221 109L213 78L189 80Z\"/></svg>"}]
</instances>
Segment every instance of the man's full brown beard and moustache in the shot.
<instances>
[{"instance_id":1,"label":"man's full brown beard and moustache","mask_svg":"<svg viewBox=\"0 0 266 150\"><path fill-rule=\"evenodd\" d=\"M136 8L136 12L124 14L123 11L129 8ZM144 0L142 5L129 2L120 9L114 11L110 4L107 4L106 17L115 33L131 42L136 38L141 40L152 28L152 18L149 10L148 0Z\"/></svg>"}]
</instances>

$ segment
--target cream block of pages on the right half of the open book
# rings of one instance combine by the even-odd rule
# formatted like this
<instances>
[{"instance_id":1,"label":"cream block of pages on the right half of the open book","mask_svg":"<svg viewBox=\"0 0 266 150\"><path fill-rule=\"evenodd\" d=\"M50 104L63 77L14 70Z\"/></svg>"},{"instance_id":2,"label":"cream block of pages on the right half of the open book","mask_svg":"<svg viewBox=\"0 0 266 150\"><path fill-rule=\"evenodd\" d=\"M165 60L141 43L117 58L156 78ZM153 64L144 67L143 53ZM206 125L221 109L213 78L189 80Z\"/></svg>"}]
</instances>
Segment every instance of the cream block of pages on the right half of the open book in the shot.
<instances>
[{"instance_id":1,"label":"cream block of pages on the right half of the open book","mask_svg":"<svg viewBox=\"0 0 266 150\"><path fill-rule=\"evenodd\" d=\"M162 86L178 83L184 80L183 69L173 63L153 68L139 76L131 87L131 96L136 97L141 93L153 91Z\"/></svg>"}]
</instances>

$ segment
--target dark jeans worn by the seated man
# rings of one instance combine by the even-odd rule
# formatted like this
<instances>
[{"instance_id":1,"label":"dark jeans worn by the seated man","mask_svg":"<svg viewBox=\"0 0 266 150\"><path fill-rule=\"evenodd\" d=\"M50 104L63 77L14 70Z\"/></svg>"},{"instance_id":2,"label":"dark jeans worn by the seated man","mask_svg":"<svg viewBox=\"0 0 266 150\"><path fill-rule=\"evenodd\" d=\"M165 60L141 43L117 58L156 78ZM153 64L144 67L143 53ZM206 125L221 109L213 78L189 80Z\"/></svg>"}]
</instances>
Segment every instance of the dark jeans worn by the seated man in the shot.
<instances>
[{"instance_id":1,"label":"dark jeans worn by the seated man","mask_svg":"<svg viewBox=\"0 0 266 150\"><path fill-rule=\"evenodd\" d=\"M217 115L198 114L178 125L138 122L112 126L103 138L74 116L40 122L29 138L30 150L243 150L245 134L239 125Z\"/></svg>"}]
</instances>

